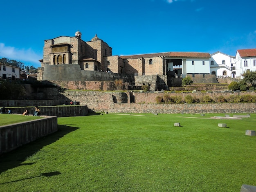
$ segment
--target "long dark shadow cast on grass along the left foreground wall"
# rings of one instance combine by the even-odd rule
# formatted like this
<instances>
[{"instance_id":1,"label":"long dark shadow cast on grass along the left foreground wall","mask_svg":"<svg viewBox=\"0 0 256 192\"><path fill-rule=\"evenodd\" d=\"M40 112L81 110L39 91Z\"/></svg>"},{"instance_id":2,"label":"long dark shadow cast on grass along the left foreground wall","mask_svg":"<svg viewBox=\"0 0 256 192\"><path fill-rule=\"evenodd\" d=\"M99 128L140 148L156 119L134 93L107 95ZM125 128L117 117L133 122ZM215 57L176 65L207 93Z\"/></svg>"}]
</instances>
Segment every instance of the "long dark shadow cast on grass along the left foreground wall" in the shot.
<instances>
[{"instance_id":1,"label":"long dark shadow cast on grass along the left foreground wall","mask_svg":"<svg viewBox=\"0 0 256 192\"><path fill-rule=\"evenodd\" d=\"M41 148L62 138L66 134L79 129L67 125L58 125L58 131L48 136L38 138L36 141L18 147L16 150L4 153L0 156L0 173L18 166L32 165L34 163L22 163L29 156L38 152Z\"/></svg>"}]
</instances>

